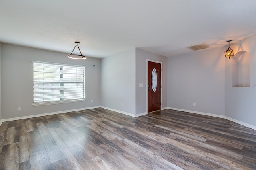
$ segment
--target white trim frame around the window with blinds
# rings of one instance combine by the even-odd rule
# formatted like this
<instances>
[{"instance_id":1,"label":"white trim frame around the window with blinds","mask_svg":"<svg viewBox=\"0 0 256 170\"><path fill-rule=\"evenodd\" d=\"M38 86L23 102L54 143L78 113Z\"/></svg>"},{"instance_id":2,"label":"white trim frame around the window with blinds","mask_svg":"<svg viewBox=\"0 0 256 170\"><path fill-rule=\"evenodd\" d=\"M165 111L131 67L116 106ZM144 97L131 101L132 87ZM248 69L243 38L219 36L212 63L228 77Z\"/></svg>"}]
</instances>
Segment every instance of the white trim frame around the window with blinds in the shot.
<instances>
[{"instance_id":1,"label":"white trim frame around the window with blinds","mask_svg":"<svg viewBox=\"0 0 256 170\"><path fill-rule=\"evenodd\" d=\"M45 63L45 64L52 64L52 65L66 65L71 67L84 67L84 65L72 65L72 64L62 64L62 63L50 63L50 62L44 62L44 61L34 61L32 60L32 63ZM34 66L33 66L33 73L34 73ZM84 73L85 74L85 73ZM79 102L79 101L86 101L86 94L84 94L84 99L68 99L68 100L61 100L61 101L46 101L46 102L40 102L40 103L34 103L34 75L33 75L33 106L43 106L43 105L56 105L61 103L72 103L72 102ZM84 91L86 91L86 76L84 75Z\"/></svg>"}]
</instances>

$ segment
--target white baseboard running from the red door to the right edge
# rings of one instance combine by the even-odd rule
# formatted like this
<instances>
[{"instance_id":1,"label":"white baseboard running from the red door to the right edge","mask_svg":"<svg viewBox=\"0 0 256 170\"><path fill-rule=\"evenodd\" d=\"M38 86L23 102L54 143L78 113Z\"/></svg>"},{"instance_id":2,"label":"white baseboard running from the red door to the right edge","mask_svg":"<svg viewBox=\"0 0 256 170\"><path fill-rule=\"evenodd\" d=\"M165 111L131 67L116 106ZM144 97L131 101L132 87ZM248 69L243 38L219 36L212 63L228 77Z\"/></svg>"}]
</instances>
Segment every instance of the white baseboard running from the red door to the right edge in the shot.
<instances>
[{"instance_id":1,"label":"white baseboard running from the red door to the right edge","mask_svg":"<svg viewBox=\"0 0 256 170\"><path fill-rule=\"evenodd\" d=\"M204 112L190 111L190 110L185 110L185 109L177 109L177 108L173 108L173 107L167 107L167 109L172 109L172 110L176 110L176 111L183 111L183 112L189 112L189 113L196 113L196 114L212 116L212 117L224 118L224 119L227 119L229 121L232 121L232 122L238 123L240 125L244 125L245 127L252 128L252 129L256 130L256 126L250 125L250 124L242 122L242 121L238 121L236 119L233 119L231 117L227 117L227 116L224 116L224 115L216 115L216 114L212 114L212 113L204 113Z\"/></svg>"}]
</instances>

